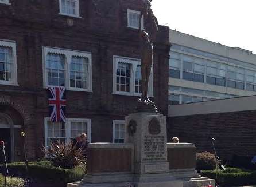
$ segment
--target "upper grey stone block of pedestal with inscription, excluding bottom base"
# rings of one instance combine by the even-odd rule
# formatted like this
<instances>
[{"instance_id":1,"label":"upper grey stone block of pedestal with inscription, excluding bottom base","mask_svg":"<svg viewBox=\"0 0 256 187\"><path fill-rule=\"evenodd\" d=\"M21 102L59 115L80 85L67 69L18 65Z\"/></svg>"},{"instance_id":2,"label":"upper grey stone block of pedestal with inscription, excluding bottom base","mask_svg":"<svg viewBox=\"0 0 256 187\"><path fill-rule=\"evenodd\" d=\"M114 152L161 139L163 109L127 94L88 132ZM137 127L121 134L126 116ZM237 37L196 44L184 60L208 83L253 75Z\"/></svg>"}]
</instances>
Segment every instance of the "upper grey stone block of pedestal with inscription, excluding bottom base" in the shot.
<instances>
[{"instance_id":1,"label":"upper grey stone block of pedestal with inscription, excluding bottom base","mask_svg":"<svg viewBox=\"0 0 256 187\"><path fill-rule=\"evenodd\" d=\"M137 124L133 134L129 133L131 120ZM134 144L134 172L137 174L168 172L166 117L159 113L130 114L125 118L125 128L127 129L125 143Z\"/></svg>"}]
</instances>

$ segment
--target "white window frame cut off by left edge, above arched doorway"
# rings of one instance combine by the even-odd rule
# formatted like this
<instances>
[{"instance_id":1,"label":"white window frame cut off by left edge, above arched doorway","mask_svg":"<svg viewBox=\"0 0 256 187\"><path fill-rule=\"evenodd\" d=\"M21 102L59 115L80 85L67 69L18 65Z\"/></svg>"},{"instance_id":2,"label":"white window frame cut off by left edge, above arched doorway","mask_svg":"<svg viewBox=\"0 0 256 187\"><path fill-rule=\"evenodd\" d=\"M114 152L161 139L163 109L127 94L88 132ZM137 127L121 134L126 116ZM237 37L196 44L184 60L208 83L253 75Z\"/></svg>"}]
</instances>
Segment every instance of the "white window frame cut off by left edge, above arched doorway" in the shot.
<instances>
[{"instance_id":1,"label":"white window frame cut off by left edge, above arched doorway","mask_svg":"<svg viewBox=\"0 0 256 187\"><path fill-rule=\"evenodd\" d=\"M11 47L13 50L13 71L11 72L11 81L0 80L0 85L11 85L18 86L18 72L17 72L17 49L16 42L6 39L0 39L0 46L2 47Z\"/></svg>"}]
</instances>

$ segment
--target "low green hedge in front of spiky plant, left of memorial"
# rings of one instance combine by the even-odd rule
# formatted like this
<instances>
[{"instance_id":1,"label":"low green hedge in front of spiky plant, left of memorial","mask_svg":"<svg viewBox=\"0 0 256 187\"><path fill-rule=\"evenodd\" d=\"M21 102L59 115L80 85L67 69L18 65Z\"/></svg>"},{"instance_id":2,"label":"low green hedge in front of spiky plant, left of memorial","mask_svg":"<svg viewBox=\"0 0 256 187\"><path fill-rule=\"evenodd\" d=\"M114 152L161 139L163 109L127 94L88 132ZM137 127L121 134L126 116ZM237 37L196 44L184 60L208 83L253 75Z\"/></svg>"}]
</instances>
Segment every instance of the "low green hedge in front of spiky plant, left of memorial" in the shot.
<instances>
[{"instance_id":1,"label":"low green hedge in front of spiky plant, left of memorial","mask_svg":"<svg viewBox=\"0 0 256 187\"><path fill-rule=\"evenodd\" d=\"M11 176L25 178L26 169L24 162L8 164ZM28 177L37 181L67 183L80 181L84 176L82 168L62 169L55 168L49 161L29 162Z\"/></svg>"}]
</instances>

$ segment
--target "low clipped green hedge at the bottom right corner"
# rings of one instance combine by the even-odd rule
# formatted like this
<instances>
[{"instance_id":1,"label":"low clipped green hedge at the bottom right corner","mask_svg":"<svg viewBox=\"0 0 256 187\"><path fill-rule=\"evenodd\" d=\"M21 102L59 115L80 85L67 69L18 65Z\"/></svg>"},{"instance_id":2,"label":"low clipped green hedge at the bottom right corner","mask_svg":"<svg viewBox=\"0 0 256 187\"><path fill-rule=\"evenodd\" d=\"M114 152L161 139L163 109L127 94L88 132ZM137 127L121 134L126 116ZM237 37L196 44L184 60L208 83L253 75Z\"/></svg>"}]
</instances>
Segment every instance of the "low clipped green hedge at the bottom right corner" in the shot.
<instances>
[{"instance_id":1,"label":"low clipped green hedge at the bottom right corner","mask_svg":"<svg viewBox=\"0 0 256 187\"><path fill-rule=\"evenodd\" d=\"M201 176L214 178L217 173L217 184L225 186L253 185L256 184L256 171L243 170L239 168L227 168L222 170L202 170Z\"/></svg>"}]
</instances>

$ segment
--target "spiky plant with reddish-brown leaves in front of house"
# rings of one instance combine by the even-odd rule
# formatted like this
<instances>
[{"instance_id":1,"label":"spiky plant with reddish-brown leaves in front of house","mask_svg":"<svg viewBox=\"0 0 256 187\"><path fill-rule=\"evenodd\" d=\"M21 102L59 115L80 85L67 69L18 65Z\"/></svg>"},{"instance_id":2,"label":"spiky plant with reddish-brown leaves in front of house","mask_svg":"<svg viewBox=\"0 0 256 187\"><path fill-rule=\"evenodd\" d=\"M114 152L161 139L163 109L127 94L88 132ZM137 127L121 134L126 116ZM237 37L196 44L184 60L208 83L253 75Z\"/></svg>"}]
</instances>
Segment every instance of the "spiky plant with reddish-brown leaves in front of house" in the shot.
<instances>
[{"instance_id":1,"label":"spiky plant with reddish-brown leaves in front of house","mask_svg":"<svg viewBox=\"0 0 256 187\"><path fill-rule=\"evenodd\" d=\"M86 169L84 150L81 148L76 149L75 146L72 146L72 142L69 142L69 144L60 141L52 142L50 146L43 147L42 150L46 160L51 161L55 167L73 169L76 166L80 166Z\"/></svg>"}]
</instances>

